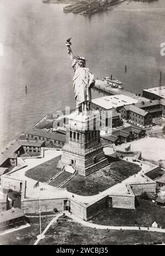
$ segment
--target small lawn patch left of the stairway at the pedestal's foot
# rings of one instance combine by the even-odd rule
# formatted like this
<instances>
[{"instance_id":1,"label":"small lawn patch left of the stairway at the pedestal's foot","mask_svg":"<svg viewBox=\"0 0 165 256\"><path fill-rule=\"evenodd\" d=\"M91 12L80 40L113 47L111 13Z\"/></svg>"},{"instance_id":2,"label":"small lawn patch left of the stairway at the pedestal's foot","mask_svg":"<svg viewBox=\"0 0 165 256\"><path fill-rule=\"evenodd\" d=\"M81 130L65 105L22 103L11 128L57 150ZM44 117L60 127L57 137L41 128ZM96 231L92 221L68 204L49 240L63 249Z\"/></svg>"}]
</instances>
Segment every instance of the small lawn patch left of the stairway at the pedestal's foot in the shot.
<instances>
[{"instance_id":1,"label":"small lawn patch left of the stairway at the pedestal's foot","mask_svg":"<svg viewBox=\"0 0 165 256\"><path fill-rule=\"evenodd\" d=\"M61 169L57 168L57 163L61 159L61 156L52 158L51 160L40 164L25 173L26 177L39 180L40 182L47 182Z\"/></svg>"}]
</instances>

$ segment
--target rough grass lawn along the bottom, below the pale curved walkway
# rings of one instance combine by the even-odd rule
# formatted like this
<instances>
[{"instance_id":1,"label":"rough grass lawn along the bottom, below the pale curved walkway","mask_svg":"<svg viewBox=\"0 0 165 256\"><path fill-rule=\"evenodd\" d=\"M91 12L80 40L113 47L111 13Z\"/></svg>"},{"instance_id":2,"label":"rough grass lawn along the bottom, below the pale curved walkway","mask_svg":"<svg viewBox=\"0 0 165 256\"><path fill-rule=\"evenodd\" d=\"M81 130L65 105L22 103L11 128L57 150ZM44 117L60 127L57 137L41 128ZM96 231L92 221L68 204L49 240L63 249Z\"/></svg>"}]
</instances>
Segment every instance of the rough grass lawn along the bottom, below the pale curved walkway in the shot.
<instances>
[{"instance_id":1,"label":"rough grass lawn along the bottom, below the pale curved walkway","mask_svg":"<svg viewBox=\"0 0 165 256\"><path fill-rule=\"evenodd\" d=\"M147 231L95 230L75 222L51 227L39 244L136 244L165 241L165 234Z\"/></svg>"}]
</instances>

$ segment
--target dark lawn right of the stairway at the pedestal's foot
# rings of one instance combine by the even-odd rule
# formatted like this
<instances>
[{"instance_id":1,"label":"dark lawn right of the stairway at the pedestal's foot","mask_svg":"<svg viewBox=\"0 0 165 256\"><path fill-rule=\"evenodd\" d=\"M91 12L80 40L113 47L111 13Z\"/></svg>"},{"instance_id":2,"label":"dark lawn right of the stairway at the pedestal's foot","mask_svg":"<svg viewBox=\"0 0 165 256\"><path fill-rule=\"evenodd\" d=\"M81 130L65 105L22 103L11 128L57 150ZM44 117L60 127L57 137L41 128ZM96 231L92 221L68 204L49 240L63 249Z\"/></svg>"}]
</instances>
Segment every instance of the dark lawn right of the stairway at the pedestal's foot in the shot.
<instances>
[{"instance_id":1,"label":"dark lawn right of the stairway at the pedestal's foot","mask_svg":"<svg viewBox=\"0 0 165 256\"><path fill-rule=\"evenodd\" d=\"M87 177L76 175L67 184L67 190L78 195L95 195L138 173L141 167L127 161L117 161L90 174Z\"/></svg>"}]
</instances>

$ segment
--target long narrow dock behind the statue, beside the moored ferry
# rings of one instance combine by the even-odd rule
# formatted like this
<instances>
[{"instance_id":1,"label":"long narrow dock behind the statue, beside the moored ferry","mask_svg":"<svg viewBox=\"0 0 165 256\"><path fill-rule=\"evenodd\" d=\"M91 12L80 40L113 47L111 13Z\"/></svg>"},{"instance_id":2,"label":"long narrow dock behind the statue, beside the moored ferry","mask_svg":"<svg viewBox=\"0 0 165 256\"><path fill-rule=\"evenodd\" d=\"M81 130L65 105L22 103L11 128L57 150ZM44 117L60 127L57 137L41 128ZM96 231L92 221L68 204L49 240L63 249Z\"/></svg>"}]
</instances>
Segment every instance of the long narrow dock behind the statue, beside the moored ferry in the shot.
<instances>
[{"instance_id":1,"label":"long narrow dock behind the statue, beside the moored ferry","mask_svg":"<svg viewBox=\"0 0 165 256\"><path fill-rule=\"evenodd\" d=\"M131 97L131 98L139 100L139 101L144 101L144 102L149 101L149 99L138 96L134 93L129 92L128 90L113 88L109 84L107 84L106 82L103 82L103 81L98 80L98 79L96 79L94 89L97 89L98 91L100 91L102 93L107 93L108 95L124 94L124 95L127 95L128 97Z\"/></svg>"}]
</instances>

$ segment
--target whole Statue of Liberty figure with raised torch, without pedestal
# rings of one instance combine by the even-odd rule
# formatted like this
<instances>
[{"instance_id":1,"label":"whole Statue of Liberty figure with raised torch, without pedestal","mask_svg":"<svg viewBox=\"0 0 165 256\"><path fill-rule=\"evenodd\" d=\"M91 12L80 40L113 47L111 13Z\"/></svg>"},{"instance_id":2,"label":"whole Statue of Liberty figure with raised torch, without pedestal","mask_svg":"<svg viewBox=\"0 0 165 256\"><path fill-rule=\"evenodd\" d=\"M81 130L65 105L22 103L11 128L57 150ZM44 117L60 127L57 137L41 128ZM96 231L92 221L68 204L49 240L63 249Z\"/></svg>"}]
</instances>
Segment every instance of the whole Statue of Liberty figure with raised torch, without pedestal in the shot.
<instances>
[{"instance_id":1,"label":"whole Statue of Liberty figure with raised torch, without pedestal","mask_svg":"<svg viewBox=\"0 0 165 256\"><path fill-rule=\"evenodd\" d=\"M68 54L72 60L72 67L75 72L73 77L73 88L76 100L76 111L89 111L91 102L91 88L95 84L94 74L92 74L89 68L86 67L86 60L84 57L73 55L70 47L70 39L67 39L66 45Z\"/></svg>"}]
</instances>

